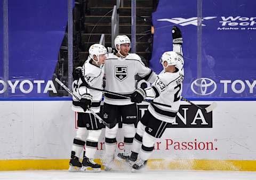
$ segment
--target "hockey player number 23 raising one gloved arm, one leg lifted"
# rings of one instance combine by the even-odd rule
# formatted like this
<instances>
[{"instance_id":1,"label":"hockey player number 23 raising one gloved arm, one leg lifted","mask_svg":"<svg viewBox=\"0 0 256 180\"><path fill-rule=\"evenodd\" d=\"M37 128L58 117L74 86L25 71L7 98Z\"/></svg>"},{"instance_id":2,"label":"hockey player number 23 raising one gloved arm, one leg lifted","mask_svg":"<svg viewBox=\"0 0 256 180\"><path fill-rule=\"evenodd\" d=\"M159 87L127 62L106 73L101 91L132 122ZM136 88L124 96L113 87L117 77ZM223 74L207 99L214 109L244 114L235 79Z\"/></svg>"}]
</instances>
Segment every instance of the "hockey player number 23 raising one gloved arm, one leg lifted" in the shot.
<instances>
[{"instance_id":1,"label":"hockey player number 23 raising one gloved arm, one leg lifted","mask_svg":"<svg viewBox=\"0 0 256 180\"><path fill-rule=\"evenodd\" d=\"M154 150L156 138L161 138L168 124L174 122L180 107L182 81L184 78L182 36L178 27L172 28L173 51L165 52L161 62L163 71L149 88L138 88L131 96L132 102L153 99L154 102L170 105L149 104L148 110L138 122L132 151L119 153L118 158L133 164L132 171L143 167ZM139 154L139 159L138 158Z\"/></svg>"}]
</instances>

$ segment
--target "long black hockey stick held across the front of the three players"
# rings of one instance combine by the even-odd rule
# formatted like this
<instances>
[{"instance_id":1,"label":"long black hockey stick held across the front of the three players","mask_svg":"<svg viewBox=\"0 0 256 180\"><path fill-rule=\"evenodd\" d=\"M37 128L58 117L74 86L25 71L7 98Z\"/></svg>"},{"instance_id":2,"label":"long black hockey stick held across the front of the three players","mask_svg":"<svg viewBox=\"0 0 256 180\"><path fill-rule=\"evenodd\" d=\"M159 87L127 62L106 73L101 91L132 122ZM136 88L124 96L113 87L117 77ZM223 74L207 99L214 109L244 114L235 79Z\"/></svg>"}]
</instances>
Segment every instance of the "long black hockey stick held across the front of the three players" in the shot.
<instances>
[{"instance_id":1,"label":"long black hockey stick held across the front of the three players","mask_svg":"<svg viewBox=\"0 0 256 180\"><path fill-rule=\"evenodd\" d=\"M108 94L111 94L111 95L115 95L115 96L119 96L119 97L125 97L127 99L131 99L131 97L129 95L123 95L123 94L119 94L119 93L114 93L114 92L110 92L110 91L107 91L107 90L103 90L103 89L99 89L99 88L95 88L95 87L91 87L87 82L86 80L84 79L84 76L83 76L83 73L81 71L81 69L77 69L78 73L79 73L79 77L81 78L83 84L85 85L85 87L89 88L89 89L92 89L92 90L95 90L95 91L101 91L103 93L108 93ZM148 102L148 103L151 103L151 104L157 104L157 105L163 105L164 107L169 107L169 108L172 108L171 105L167 105L167 104L162 104L162 103L158 103L158 102L153 102L153 101L150 101L150 100L143 100L145 102Z\"/></svg>"}]
</instances>

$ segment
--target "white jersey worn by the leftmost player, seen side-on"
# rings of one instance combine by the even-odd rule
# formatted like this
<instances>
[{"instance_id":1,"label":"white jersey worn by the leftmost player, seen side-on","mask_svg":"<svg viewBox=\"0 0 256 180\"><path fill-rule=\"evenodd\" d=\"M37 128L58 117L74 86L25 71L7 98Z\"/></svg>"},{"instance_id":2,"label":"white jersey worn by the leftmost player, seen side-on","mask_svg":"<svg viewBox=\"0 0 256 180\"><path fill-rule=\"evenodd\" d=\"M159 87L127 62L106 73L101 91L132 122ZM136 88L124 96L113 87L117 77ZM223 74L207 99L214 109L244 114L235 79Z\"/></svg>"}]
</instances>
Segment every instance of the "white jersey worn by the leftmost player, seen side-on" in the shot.
<instances>
[{"instance_id":1,"label":"white jersey worn by the leftmost player, seen side-on","mask_svg":"<svg viewBox=\"0 0 256 180\"><path fill-rule=\"evenodd\" d=\"M92 60L90 60L92 61ZM102 83L103 83L103 76L104 76L104 66L97 67L94 64L92 64L89 60L87 60L83 65L83 76L86 82L91 86L95 88L102 89ZM86 88L85 85L82 83L81 78L79 78L78 83L75 82L75 87L73 93L81 99L81 97L84 94L91 94L92 96L92 106L91 110L94 112L100 112L100 102L102 99L102 92L95 91L93 89ZM84 112L84 110L78 106L78 101L73 97L73 105L72 109L77 112ZM86 113L90 113L89 111L86 111Z\"/></svg>"}]
</instances>

